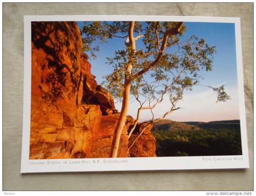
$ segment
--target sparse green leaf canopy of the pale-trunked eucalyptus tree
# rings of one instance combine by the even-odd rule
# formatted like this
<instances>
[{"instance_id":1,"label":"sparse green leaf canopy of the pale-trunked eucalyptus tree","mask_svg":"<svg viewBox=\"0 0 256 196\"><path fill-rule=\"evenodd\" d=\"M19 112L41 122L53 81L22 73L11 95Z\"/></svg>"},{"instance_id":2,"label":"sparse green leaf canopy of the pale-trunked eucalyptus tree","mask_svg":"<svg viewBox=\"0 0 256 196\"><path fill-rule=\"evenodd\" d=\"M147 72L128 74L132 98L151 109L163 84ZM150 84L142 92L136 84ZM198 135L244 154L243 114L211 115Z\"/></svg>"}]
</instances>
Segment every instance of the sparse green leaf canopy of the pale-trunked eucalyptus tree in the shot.
<instances>
[{"instance_id":1,"label":"sparse green leaf canopy of the pale-trunked eucalyptus tree","mask_svg":"<svg viewBox=\"0 0 256 196\"><path fill-rule=\"evenodd\" d=\"M188 40L180 41L186 31L186 27L182 26L177 35L171 35L166 41L165 53L156 65L148 72L138 75L141 70L147 69L161 52L160 45L165 32L176 26L177 22L135 22L134 37L135 40L136 38L142 39L143 47L134 54L131 54L130 47L117 49L113 57L107 57L108 65L112 66L113 72L105 75L103 84L116 99L123 97L125 68L131 61L131 93L135 96L138 93L149 94L153 99L157 98L155 94L165 91L169 81L172 81L172 87L168 90L169 95L175 94L174 97L180 97L183 89L191 90L192 86L199 83L201 79L199 72L202 69L212 71L215 46L208 45L203 38L198 38L196 35L192 35ZM99 44L112 38L126 39L127 44L128 31L129 21L84 22L82 29L84 51L91 52L91 55L96 57L95 52L99 50ZM169 49L171 46L173 49ZM137 91L138 86L143 86L143 88ZM213 91L218 93L218 101L230 99L224 92L224 86L213 88Z\"/></svg>"}]
</instances>

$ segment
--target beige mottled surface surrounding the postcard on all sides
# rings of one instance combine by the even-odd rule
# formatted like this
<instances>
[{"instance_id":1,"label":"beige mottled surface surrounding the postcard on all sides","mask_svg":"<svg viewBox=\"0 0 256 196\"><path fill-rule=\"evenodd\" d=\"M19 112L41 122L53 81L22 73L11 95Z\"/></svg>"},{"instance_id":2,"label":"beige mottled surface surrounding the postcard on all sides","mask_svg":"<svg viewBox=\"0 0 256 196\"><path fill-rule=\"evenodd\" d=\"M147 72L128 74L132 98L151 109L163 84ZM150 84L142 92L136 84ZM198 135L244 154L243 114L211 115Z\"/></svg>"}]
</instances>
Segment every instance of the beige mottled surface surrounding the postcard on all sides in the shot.
<instances>
[{"instance_id":1,"label":"beige mottled surface surrounding the postcard on all sides","mask_svg":"<svg viewBox=\"0 0 256 196\"><path fill-rule=\"evenodd\" d=\"M4 3L3 189L246 190L253 189L253 4L19 4ZM186 15L241 18L250 169L20 174L23 121L24 15ZM188 163L189 164L189 163Z\"/></svg>"}]
</instances>

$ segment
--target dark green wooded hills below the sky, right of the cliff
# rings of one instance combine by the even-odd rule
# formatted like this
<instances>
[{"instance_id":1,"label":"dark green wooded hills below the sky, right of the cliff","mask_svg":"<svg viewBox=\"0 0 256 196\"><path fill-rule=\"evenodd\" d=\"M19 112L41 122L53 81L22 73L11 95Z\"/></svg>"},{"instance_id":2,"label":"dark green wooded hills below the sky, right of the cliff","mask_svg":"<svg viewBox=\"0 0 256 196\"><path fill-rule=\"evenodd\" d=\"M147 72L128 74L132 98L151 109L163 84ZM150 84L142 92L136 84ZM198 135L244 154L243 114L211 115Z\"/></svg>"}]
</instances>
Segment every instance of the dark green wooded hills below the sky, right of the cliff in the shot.
<instances>
[{"instance_id":1,"label":"dark green wooded hills below the sky, right of the cliff","mask_svg":"<svg viewBox=\"0 0 256 196\"><path fill-rule=\"evenodd\" d=\"M191 125L193 124L193 125ZM241 155L239 121L160 121L152 128L157 156Z\"/></svg>"}]
</instances>

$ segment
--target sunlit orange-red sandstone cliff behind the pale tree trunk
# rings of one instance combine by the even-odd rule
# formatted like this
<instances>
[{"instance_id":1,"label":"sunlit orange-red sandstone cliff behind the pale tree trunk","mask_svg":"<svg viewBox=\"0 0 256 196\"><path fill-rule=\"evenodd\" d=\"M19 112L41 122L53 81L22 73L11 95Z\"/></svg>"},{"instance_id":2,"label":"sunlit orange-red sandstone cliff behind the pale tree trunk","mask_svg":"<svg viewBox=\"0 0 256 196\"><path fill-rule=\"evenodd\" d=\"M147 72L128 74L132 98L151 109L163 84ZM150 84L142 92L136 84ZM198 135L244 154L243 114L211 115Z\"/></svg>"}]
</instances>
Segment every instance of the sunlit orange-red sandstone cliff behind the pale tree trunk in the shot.
<instances>
[{"instance_id":1,"label":"sunlit orange-red sandstone cliff behind the pale tree trunk","mask_svg":"<svg viewBox=\"0 0 256 196\"><path fill-rule=\"evenodd\" d=\"M110 156L119 114L91 74L76 22L32 22L31 91L30 159ZM118 157L155 156L150 130L127 154L127 128Z\"/></svg>"}]
</instances>

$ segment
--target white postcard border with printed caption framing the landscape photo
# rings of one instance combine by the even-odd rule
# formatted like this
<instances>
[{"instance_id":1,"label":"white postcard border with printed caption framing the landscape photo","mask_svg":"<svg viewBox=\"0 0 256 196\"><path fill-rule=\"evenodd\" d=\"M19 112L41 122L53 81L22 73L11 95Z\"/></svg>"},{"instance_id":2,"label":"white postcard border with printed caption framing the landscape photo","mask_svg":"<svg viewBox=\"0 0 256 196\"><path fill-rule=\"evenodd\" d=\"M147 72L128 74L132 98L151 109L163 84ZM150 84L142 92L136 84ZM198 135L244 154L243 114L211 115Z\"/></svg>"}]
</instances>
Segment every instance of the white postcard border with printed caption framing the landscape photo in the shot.
<instances>
[{"instance_id":1,"label":"white postcard border with printed caption framing the landscape photo","mask_svg":"<svg viewBox=\"0 0 256 196\"><path fill-rule=\"evenodd\" d=\"M236 68L240 107L241 142L243 155L180 156L151 158L82 158L29 159L31 103L31 21L184 21L205 23L234 23L236 38ZM144 16L144 15L65 15L24 16L24 105L21 173L87 172L118 170L183 170L249 168L244 102L243 61L240 18L201 16Z\"/></svg>"}]
</instances>

